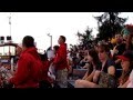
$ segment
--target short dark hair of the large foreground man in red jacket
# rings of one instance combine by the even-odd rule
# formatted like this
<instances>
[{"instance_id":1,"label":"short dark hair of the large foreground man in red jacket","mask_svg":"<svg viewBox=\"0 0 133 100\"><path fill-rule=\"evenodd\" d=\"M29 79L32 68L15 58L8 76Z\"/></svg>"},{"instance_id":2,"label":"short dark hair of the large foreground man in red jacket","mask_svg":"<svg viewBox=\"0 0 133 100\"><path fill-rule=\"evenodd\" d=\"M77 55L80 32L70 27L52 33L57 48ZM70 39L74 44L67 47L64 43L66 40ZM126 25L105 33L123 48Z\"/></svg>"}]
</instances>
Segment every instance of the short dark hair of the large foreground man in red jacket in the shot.
<instances>
[{"instance_id":1,"label":"short dark hair of the large foreground man in red jacket","mask_svg":"<svg viewBox=\"0 0 133 100\"><path fill-rule=\"evenodd\" d=\"M25 36L22 40L22 46L27 48L34 47L34 39L31 36Z\"/></svg>"}]
</instances>

